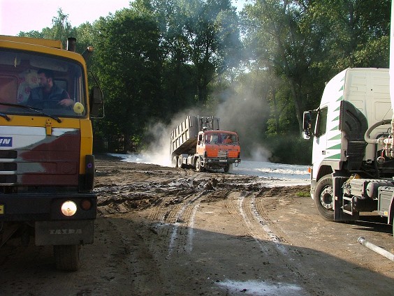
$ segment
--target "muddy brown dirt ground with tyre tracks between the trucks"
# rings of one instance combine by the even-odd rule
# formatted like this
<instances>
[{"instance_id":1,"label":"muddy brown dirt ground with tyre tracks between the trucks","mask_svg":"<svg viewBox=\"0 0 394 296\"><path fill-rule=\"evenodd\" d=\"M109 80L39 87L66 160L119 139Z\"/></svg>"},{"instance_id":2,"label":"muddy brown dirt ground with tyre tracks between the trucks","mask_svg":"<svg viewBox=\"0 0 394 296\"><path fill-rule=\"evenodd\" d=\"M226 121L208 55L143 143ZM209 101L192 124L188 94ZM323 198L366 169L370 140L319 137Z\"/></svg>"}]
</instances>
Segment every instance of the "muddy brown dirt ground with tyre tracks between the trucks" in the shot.
<instances>
[{"instance_id":1,"label":"muddy brown dirt ground with tyre tracks between the trucks","mask_svg":"<svg viewBox=\"0 0 394 296\"><path fill-rule=\"evenodd\" d=\"M52 248L0 249L0 295L393 295L394 252L379 217L323 221L307 186L97 161L99 215L78 272Z\"/></svg>"}]
</instances>

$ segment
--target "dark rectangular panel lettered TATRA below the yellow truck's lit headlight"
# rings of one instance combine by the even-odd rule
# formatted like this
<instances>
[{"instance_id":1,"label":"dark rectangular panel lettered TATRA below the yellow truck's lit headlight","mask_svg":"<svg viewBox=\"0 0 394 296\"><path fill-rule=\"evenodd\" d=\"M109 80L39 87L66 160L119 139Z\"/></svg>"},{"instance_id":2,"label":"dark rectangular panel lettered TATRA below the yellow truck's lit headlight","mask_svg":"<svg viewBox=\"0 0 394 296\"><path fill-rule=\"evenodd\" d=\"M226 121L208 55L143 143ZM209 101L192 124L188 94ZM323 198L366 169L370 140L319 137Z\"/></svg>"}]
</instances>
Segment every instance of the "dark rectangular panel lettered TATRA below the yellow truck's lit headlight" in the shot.
<instances>
[{"instance_id":1,"label":"dark rectangular panel lettered TATRA below the yellow truck's lit headlight","mask_svg":"<svg viewBox=\"0 0 394 296\"><path fill-rule=\"evenodd\" d=\"M94 220L36 222L36 246L93 244Z\"/></svg>"}]
</instances>

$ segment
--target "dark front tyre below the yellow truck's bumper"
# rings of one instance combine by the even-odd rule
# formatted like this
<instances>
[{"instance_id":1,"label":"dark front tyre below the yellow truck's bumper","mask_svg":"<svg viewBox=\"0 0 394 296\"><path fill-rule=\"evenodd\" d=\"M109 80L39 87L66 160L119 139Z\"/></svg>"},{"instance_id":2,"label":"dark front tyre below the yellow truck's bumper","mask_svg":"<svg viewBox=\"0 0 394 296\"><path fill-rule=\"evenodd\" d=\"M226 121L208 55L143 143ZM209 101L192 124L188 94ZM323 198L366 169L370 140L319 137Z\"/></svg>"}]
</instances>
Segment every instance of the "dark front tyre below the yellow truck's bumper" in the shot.
<instances>
[{"instance_id":1,"label":"dark front tyre below the yellow truck's bumper","mask_svg":"<svg viewBox=\"0 0 394 296\"><path fill-rule=\"evenodd\" d=\"M79 244L53 246L56 268L67 272L75 272L80 268Z\"/></svg>"}]
</instances>

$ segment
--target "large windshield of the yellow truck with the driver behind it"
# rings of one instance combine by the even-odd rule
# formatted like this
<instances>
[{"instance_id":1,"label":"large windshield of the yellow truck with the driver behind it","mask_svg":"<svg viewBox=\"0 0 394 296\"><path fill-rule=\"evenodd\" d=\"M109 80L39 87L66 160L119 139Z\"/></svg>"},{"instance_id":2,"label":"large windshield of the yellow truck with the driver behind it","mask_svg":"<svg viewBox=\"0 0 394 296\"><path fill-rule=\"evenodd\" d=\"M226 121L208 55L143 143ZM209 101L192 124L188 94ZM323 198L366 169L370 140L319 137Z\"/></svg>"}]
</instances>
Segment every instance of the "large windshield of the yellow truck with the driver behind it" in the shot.
<instances>
[{"instance_id":1,"label":"large windshield of the yellow truck with the driver behind it","mask_svg":"<svg viewBox=\"0 0 394 296\"><path fill-rule=\"evenodd\" d=\"M68 59L0 50L0 112L85 117L82 73L82 66ZM21 105L29 108L20 108Z\"/></svg>"}]
</instances>

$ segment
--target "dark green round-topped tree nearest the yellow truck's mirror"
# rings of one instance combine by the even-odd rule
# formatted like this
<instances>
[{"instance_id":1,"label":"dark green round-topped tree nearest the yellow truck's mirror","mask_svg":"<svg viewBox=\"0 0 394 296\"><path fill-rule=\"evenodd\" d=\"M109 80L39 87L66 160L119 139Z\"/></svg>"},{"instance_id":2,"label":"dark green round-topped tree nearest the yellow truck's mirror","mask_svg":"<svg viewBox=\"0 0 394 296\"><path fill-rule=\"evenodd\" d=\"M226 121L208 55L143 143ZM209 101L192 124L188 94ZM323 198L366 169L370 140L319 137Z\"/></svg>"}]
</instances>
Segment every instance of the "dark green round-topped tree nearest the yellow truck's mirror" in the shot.
<instances>
[{"instance_id":1,"label":"dark green round-topped tree nearest the yellow truck's mirror","mask_svg":"<svg viewBox=\"0 0 394 296\"><path fill-rule=\"evenodd\" d=\"M156 22L131 9L102 19L98 29L96 61L106 98L101 128L124 138L123 151L131 151L131 139L160 116L159 30Z\"/></svg>"}]
</instances>

